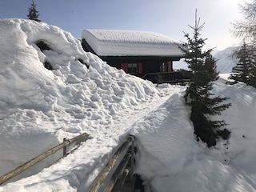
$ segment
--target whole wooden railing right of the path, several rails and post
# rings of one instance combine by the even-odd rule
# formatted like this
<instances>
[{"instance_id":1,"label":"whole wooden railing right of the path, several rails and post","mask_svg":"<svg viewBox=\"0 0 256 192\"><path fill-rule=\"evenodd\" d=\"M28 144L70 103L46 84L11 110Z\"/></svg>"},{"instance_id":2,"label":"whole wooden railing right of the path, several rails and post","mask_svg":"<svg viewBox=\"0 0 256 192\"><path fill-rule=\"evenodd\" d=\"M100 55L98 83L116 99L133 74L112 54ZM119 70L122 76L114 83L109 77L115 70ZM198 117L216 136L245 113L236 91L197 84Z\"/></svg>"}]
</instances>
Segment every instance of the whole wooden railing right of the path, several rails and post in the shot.
<instances>
[{"instance_id":1,"label":"whole wooden railing right of the path, several rails and post","mask_svg":"<svg viewBox=\"0 0 256 192\"><path fill-rule=\"evenodd\" d=\"M127 164L130 165L127 168ZM130 135L115 151L106 166L94 179L87 192L120 191L128 174L134 175L134 136ZM132 187L131 187L132 188Z\"/></svg>"}]
</instances>

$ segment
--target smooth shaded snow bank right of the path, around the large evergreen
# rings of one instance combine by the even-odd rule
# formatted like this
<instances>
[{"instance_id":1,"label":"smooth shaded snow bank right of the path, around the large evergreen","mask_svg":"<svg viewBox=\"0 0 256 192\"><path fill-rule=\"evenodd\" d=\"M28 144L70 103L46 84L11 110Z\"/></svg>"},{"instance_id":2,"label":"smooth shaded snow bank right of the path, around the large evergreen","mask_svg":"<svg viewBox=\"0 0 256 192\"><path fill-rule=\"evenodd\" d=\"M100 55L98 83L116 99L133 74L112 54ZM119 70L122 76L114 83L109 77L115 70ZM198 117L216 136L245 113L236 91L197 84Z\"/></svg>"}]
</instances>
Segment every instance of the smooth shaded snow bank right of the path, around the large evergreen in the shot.
<instances>
[{"instance_id":1,"label":"smooth shaded snow bank right of the path, around the large evergreen","mask_svg":"<svg viewBox=\"0 0 256 192\"><path fill-rule=\"evenodd\" d=\"M214 94L229 97L229 109L216 116L231 131L228 142L208 149L196 142L183 92L175 94L133 125L138 138L136 172L149 191L256 191L256 93L244 84L214 82Z\"/></svg>"}]
</instances>

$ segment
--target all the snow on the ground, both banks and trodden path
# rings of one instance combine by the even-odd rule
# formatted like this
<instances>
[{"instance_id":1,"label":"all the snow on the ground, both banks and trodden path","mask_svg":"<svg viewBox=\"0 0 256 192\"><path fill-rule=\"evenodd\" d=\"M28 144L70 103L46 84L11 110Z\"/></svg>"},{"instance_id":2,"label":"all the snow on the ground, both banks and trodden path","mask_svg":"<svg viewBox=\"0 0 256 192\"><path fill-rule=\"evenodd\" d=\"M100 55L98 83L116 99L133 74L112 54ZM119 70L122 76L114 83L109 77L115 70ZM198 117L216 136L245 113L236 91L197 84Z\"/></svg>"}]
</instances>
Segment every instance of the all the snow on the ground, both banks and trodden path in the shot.
<instances>
[{"instance_id":1,"label":"all the snow on the ground, both banks and trodden path","mask_svg":"<svg viewBox=\"0 0 256 192\"><path fill-rule=\"evenodd\" d=\"M186 86L156 87L112 68L57 26L1 19L0 33L0 175L62 138L90 134L73 154L0 191L86 191L128 134L146 191L256 191L254 88L226 85L228 74L214 82L214 94L232 103L214 117L226 120L231 137L209 149L194 138ZM42 40L51 50L36 46Z\"/></svg>"}]
</instances>

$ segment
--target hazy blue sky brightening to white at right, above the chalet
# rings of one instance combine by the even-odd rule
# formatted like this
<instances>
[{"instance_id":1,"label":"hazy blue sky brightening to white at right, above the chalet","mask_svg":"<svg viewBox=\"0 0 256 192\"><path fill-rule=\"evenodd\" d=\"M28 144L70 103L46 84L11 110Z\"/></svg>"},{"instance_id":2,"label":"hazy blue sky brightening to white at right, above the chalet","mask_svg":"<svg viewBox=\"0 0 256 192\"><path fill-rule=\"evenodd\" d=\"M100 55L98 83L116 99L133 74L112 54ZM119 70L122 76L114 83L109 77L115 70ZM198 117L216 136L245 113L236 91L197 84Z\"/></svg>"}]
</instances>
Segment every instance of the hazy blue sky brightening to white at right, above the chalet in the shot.
<instances>
[{"instance_id":1,"label":"hazy blue sky brightening to white at right, above the chalet","mask_svg":"<svg viewBox=\"0 0 256 192\"><path fill-rule=\"evenodd\" d=\"M242 18L243 0L34 0L39 19L81 38L85 29L146 30L186 41L193 34L194 12L205 26L206 49L238 45L230 33ZM31 0L0 0L0 18L27 18Z\"/></svg>"}]
</instances>

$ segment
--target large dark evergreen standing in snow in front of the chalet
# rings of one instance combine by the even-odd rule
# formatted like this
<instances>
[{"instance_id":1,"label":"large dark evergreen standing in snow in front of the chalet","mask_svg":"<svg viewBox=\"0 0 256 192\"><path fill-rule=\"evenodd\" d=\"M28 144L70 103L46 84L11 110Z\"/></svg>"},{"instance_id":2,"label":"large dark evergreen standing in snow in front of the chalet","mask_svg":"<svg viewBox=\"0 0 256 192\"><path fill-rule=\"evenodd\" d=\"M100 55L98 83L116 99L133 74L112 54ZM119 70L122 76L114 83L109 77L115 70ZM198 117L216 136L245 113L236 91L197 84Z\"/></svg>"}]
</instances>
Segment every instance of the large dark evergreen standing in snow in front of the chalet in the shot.
<instances>
[{"instance_id":1,"label":"large dark evergreen standing in snow in front of the chalet","mask_svg":"<svg viewBox=\"0 0 256 192\"><path fill-rule=\"evenodd\" d=\"M221 114L230 106L221 104L227 98L214 97L212 94L213 81L216 80L216 60L211 55L212 49L203 51L206 39L200 38L200 31L203 28L199 25L200 18L195 19L195 26L190 28L194 30L194 36L190 38L185 34L187 42L180 47L184 52L185 61L191 71L190 84L186 89L186 104L191 106L190 119L194 124L194 134L197 139L206 142L207 146L215 146L217 138L229 138L229 130L221 130L226 126L224 121L211 121L210 115Z\"/></svg>"}]
</instances>

